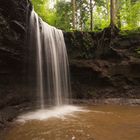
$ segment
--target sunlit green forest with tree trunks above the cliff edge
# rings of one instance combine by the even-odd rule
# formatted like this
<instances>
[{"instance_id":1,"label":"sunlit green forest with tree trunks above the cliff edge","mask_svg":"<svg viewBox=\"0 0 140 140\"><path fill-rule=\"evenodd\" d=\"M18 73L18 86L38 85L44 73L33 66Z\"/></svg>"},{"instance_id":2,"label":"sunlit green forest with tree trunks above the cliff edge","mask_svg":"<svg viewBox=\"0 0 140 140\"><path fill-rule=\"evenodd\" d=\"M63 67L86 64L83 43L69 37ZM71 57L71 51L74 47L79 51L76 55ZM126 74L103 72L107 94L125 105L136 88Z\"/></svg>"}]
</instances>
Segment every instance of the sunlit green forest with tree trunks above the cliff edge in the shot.
<instances>
[{"instance_id":1,"label":"sunlit green forest with tree trunks above the cliff edge","mask_svg":"<svg viewBox=\"0 0 140 140\"><path fill-rule=\"evenodd\" d=\"M35 11L50 25L65 31L140 28L140 0L32 0ZM140 29L139 29L140 30Z\"/></svg>"}]
</instances>

